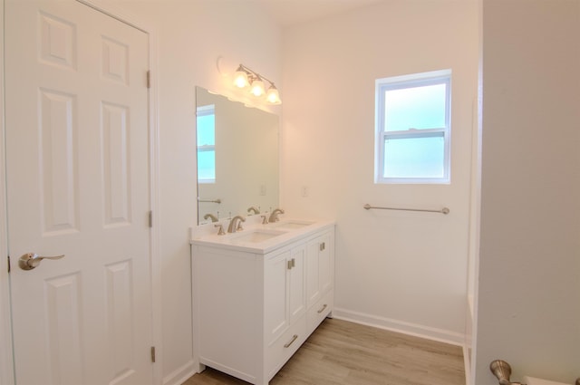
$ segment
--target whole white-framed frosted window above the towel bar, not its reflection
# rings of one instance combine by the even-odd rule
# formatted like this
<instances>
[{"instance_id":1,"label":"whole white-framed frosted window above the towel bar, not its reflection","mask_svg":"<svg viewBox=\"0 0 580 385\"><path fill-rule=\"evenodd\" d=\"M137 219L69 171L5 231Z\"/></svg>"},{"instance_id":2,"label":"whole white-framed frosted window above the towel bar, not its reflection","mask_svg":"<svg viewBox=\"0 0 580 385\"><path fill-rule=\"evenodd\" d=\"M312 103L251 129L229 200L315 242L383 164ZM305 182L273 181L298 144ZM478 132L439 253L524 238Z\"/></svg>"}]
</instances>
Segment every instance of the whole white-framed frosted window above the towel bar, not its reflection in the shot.
<instances>
[{"instance_id":1,"label":"whole white-framed frosted window above the towel bar, not its reflection","mask_svg":"<svg viewBox=\"0 0 580 385\"><path fill-rule=\"evenodd\" d=\"M451 71L376 81L377 183L449 183Z\"/></svg>"}]
</instances>

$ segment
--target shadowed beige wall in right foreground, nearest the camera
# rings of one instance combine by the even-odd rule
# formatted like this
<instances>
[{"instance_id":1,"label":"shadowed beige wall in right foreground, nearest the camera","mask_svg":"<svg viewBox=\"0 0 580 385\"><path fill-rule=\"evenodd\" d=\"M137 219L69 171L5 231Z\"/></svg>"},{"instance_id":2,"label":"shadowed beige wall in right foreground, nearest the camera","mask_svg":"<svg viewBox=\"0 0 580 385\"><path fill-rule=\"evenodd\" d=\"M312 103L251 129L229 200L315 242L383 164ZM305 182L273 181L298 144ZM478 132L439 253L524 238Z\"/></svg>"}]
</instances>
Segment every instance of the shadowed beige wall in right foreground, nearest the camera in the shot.
<instances>
[{"instance_id":1,"label":"shadowed beige wall in right foreground, nearest the camera","mask_svg":"<svg viewBox=\"0 0 580 385\"><path fill-rule=\"evenodd\" d=\"M483 0L476 383L580 377L580 2Z\"/></svg>"}]
</instances>

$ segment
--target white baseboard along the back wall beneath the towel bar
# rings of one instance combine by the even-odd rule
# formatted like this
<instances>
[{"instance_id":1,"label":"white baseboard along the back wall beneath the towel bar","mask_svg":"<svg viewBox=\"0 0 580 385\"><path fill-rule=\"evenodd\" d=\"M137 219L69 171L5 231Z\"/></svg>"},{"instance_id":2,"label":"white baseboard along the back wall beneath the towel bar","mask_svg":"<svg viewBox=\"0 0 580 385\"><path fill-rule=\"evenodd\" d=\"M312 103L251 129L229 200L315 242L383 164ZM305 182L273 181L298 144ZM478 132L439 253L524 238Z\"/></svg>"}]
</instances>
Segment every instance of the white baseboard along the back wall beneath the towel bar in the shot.
<instances>
[{"instance_id":1,"label":"white baseboard along the back wall beneath the towel bar","mask_svg":"<svg viewBox=\"0 0 580 385\"><path fill-rule=\"evenodd\" d=\"M372 314L334 308L333 317L339 320L361 323L363 325L373 326L391 332L401 332L403 334L425 338L432 341L445 342L451 345L463 346L465 343L465 334L459 332L450 332L442 329L432 328L430 326L419 325L416 323L391 320Z\"/></svg>"}]
</instances>

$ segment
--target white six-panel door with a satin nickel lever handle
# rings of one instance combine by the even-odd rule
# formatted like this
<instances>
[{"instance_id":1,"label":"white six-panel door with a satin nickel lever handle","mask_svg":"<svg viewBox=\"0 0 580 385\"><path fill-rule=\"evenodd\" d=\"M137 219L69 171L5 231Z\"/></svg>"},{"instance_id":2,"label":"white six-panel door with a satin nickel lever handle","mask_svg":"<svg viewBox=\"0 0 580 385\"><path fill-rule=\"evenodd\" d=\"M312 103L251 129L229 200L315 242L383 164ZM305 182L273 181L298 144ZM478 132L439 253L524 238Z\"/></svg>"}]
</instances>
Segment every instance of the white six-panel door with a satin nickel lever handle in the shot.
<instances>
[{"instance_id":1,"label":"white six-panel door with a satin nickel lever handle","mask_svg":"<svg viewBox=\"0 0 580 385\"><path fill-rule=\"evenodd\" d=\"M151 383L148 36L6 0L5 40L17 384Z\"/></svg>"}]
</instances>

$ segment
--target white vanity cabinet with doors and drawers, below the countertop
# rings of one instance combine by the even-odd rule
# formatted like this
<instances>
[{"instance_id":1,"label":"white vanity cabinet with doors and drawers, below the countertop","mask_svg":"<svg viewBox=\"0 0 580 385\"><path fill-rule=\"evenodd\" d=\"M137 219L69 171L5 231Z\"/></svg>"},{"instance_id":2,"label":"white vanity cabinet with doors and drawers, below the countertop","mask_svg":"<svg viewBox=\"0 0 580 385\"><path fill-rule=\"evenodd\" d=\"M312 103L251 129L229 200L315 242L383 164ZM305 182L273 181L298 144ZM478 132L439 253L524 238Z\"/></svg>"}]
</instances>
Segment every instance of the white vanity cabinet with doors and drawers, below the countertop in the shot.
<instances>
[{"instance_id":1,"label":"white vanity cabinet with doors and drawers, below the countertop","mask_svg":"<svg viewBox=\"0 0 580 385\"><path fill-rule=\"evenodd\" d=\"M333 310L333 224L266 248L192 242L195 360L266 385Z\"/></svg>"}]
</instances>

